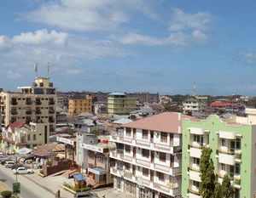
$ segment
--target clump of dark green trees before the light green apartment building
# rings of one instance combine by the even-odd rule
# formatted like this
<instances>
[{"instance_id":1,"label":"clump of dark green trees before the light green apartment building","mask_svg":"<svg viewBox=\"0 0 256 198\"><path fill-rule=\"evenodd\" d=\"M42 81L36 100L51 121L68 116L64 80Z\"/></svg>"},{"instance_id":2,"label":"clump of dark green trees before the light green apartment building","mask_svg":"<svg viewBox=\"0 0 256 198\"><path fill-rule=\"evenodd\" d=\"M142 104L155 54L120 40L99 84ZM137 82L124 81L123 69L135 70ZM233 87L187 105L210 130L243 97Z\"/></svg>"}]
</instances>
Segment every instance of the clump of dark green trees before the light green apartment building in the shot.
<instances>
[{"instance_id":1,"label":"clump of dark green trees before the light green apartment building","mask_svg":"<svg viewBox=\"0 0 256 198\"><path fill-rule=\"evenodd\" d=\"M218 176L214 174L211 154L210 148L203 148L200 159L199 193L203 198L231 198L234 195L234 189L230 184L230 177L225 174L222 184L218 184Z\"/></svg>"}]
</instances>

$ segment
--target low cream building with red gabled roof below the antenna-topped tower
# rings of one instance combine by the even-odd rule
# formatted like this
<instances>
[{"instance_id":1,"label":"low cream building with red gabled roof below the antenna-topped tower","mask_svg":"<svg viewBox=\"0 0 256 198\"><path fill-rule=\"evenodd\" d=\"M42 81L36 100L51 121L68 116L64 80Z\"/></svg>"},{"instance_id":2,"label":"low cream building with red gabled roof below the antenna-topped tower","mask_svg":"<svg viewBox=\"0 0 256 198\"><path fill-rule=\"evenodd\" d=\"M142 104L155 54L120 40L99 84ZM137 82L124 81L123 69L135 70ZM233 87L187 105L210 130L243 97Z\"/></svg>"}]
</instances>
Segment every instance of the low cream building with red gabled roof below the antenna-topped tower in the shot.
<instances>
[{"instance_id":1,"label":"low cream building with red gabled roof below the antenna-topped tower","mask_svg":"<svg viewBox=\"0 0 256 198\"><path fill-rule=\"evenodd\" d=\"M49 123L13 122L3 129L2 149L7 153L49 143Z\"/></svg>"}]
</instances>

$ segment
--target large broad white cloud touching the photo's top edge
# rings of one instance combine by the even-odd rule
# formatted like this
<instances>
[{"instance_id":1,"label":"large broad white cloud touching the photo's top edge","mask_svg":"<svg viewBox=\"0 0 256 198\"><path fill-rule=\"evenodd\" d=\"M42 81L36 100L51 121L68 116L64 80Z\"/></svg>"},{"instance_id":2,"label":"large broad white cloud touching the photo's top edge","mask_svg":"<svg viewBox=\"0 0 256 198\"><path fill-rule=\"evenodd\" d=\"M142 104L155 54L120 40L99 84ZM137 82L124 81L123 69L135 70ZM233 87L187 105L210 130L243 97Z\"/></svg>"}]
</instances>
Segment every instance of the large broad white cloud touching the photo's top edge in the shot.
<instances>
[{"instance_id":1,"label":"large broad white cloud touching the photo's top edge","mask_svg":"<svg viewBox=\"0 0 256 198\"><path fill-rule=\"evenodd\" d=\"M33 22L75 31L109 31L130 20L132 10L154 18L154 10L143 0L57 0L24 14Z\"/></svg>"}]
</instances>

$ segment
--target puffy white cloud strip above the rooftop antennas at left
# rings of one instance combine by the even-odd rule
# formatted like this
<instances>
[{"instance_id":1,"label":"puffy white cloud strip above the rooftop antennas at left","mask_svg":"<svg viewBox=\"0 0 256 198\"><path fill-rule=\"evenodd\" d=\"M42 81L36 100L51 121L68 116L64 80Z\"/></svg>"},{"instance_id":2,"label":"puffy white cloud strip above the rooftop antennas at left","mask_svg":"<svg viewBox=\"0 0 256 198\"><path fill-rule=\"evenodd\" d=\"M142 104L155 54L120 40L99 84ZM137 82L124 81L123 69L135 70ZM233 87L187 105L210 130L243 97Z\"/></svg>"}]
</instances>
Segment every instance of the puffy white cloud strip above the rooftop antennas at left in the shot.
<instances>
[{"instance_id":1,"label":"puffy white cloud strip above the rooftop antennas at left","mask_svg":"<svg viewBox=\"0 0 256 198\"><path fill-rule=\"evenodd\" d=\"M44 44L54 43L57 45L64 45L67 40L66 32L47 31L46 29L38 30L35 32L23 32L20 35L13 37L14 43L23 44Z\"/></svg>"}]
</instances>

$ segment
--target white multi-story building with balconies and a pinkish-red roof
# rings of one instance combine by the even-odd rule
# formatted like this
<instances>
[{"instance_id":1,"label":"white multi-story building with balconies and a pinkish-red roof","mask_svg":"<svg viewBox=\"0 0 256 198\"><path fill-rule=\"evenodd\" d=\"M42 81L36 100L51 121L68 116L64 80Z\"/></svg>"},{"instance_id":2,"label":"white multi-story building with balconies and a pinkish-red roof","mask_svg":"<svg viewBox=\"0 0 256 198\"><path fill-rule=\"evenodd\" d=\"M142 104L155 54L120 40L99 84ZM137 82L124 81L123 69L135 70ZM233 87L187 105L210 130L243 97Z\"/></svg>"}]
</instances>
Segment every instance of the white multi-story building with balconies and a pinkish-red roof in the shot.
<instances>
[{"instance_id":1,"label":"white multi-story building with balconies and a pinkish-red roof","mask_svg":"<svg viewBox=\"0 0 256 198\"><path fill-rule=\"evenodd\" d=\"M165 112L126 123L112 134L114 189L139 198L180 197L183 118L195 119Z\"/></svg>"}]
</instances>

